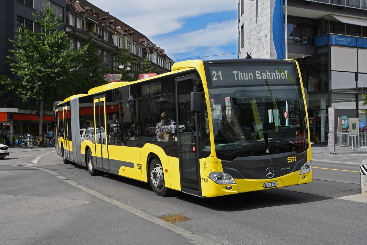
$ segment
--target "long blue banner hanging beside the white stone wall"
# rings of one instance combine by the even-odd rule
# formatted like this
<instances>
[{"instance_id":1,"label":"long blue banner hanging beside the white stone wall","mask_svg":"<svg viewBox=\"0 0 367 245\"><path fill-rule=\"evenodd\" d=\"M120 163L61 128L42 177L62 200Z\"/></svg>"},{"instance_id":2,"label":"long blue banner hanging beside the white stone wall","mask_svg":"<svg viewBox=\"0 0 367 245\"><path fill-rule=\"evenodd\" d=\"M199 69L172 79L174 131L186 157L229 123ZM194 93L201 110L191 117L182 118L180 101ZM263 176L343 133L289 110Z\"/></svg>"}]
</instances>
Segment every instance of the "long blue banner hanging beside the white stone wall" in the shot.
<instances>
[{"instance_id":1,"label":"long blue banner hanging beside the white stone wall","mask_svg":"<svg viewBox=\"0 0 367 245\"><path fill-rule=\"evenodd\" d=\"M273 14L273 41L277 59L284 60L286 58L286 47L284 46L284 11L283 0L275 0Z\"/></svg>"}]
</instances>

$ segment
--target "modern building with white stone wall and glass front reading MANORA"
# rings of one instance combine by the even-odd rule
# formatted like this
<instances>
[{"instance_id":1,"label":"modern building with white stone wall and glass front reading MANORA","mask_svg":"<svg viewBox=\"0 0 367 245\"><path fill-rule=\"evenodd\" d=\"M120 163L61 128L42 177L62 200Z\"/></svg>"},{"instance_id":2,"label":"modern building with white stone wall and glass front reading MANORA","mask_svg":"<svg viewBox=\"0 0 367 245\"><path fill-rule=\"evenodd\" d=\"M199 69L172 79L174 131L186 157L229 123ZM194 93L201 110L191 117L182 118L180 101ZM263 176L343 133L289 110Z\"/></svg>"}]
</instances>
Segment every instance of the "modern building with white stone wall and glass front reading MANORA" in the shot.
<instances>
[{"instance_id":1,"label":"modern building with white stone wall and glass front reading MANORA","mask_svg":"<svg viewBox=\"0 0 367 245\"><path fill-rule=\"evenodd\" d=\"M277 1L238 1L239 58L279 56L273 35ZM360 110L366 109L367 1L288 0L286 9L285 50L297 60L308 91L311 142L328 140L328 107L335 108L335 118L359 118L366 131ZM340 131L348 130L344 126Z\"/></svg>"}]
</instances>

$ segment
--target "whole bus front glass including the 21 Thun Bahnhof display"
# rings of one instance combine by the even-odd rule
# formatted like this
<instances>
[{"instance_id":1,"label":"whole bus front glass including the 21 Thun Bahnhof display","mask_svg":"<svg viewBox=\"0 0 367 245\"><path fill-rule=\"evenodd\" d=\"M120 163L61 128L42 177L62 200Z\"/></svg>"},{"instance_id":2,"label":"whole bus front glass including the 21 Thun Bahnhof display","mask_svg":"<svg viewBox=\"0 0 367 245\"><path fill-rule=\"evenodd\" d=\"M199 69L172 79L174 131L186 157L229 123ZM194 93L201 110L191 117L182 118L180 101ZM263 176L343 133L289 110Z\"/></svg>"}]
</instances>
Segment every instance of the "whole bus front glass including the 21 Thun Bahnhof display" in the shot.
<instances>
[{"instance_id":1,"label":"whole bus front glass including the 21 Thun Bahnhof display","mask_svg":"<svg viewBox=\"0 0 367 245\"><path fill-rule=\"evenodd\" d=\"M219 158L264 155L264 146L275 149L273 153L308 147L303 88L294 63L212 64L206 68L211 77L208 94Z\"/></svg>"}]
</instances>

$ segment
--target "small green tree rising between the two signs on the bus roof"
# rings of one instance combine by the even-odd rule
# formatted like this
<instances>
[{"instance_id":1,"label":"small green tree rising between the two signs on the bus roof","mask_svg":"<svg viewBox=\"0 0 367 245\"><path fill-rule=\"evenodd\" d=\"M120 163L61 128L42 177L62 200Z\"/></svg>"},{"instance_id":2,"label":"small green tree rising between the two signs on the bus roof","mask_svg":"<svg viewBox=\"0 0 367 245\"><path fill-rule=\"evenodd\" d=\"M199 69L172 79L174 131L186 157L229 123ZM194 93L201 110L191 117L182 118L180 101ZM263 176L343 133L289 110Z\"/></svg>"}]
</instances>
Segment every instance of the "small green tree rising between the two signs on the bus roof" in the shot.
<instances>
[{"instance_id":1,"label":"small green tree rising between the two signs on the bus roof","mask_svg":"<svg viewBox=\"0 0 367 245\"><path fill-rule=\"evenodd\" d=\"M125 39L123 39L123 47L119 47L119 54L116 55L116 60L111 61L123 65L123 68L119 69L119 71L111 71L111 74L122 74L120 81L131 82L138 78L139 72L132 70L132 64L137 64L138 61L131 57L130 53L130 50L125 47Z\"/></svg>"}]
</instances>

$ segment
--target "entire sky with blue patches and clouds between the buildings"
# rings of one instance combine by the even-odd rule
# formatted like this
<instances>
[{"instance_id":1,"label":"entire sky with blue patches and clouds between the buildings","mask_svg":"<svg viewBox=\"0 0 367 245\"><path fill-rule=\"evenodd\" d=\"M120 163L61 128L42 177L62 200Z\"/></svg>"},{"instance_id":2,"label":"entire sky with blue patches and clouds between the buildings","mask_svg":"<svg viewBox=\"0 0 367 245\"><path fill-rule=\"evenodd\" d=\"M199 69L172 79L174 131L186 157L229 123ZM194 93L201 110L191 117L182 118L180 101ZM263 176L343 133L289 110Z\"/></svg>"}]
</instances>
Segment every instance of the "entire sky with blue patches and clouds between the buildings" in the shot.
<instances>
[{"instance_id":1,"label":"entire sky with blue patches and clouds between the buildings","mask_svg":"<svg viewBox=\"0 0 367 245\"><path fill-rule=\"evenodd\" d=\"M174 62L238 58L237 0L88 0L163 48Z\"/></svg>"}]
</instances>

